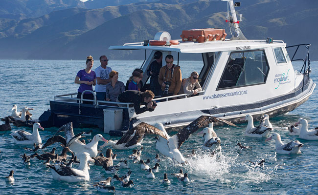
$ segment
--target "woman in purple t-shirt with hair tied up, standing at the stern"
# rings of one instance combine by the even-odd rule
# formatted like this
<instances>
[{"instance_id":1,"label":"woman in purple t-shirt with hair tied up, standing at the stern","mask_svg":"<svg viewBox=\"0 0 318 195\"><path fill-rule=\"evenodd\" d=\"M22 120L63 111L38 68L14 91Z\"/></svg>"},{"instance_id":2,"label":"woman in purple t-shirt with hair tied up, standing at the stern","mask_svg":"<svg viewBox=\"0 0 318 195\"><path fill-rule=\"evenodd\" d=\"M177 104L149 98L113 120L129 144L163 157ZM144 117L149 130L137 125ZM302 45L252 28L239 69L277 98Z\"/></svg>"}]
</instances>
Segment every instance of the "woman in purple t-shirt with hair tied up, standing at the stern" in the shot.
<instances>
[{"instance_id":1,"label":"woman in purple t-shirt with hair tied up, standing at the stern","mask_svg":"<svg viewBox=\"0 0 318 195\"><path fill-rule=\"evenodd\" d=\"M75 83L80 84L78 88L78 93L76 98L81 98L82 93L85 90L93 91L93 86L96 84L96 74L94 71L91 70L93 67L94 59L91 56L86 58L86 68L83 70L78 71L75 77ZM83 99L94 99L94 96L91 92L85 92L83 95ZM92 101L83 101L86 104L93 104Z\"/></svg>"}]
</instances>

